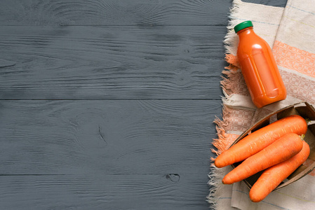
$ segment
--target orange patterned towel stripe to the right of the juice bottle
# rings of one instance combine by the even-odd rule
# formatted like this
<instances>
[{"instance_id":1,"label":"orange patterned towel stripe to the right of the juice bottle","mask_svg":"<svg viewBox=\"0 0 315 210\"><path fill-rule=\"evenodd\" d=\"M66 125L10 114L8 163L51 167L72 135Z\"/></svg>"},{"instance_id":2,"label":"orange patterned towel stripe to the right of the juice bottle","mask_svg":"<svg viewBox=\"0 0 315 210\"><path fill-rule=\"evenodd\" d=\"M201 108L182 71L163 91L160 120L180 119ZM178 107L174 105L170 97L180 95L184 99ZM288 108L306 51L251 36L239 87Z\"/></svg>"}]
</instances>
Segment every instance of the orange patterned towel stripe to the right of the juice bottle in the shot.
<instances>
[{"instance_id":1,"label":"orange patterned towel stripe to the right of the juice bottle","mask_svg":"<svg viewBox=\"0 0 315 210\"><path fill-rule=\"evenodd\" d=\"M280 41L274 42L272 52L276 64L286 69L295 70L307 76L315 78L315 54L300 50Z\"/></svg>"}]
</instances>

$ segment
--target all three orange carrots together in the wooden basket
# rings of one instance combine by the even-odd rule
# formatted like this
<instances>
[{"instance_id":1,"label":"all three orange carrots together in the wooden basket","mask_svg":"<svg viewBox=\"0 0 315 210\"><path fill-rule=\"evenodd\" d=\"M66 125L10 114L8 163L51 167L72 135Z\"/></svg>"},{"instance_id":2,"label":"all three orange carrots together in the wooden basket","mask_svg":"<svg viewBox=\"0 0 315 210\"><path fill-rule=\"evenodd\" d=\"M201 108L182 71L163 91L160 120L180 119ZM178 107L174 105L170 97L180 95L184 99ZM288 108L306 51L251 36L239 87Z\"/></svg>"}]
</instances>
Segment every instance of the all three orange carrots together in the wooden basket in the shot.
<instances>
[{"instance_id":1,"label":"all three orange carrots together in the wooden basket","mask_svg":"<svg viewBox=\"0 0 315 210\"><path fill-rule=\"evenodd\" d=\"M222 179L232 184L262 172L250 189L250 200L264 200L279 184L307 160L309 145L302 140L307 122L293 115L276 120L241 139L215 159L216 167L241 162Z\"/></svg>"}]
</instances>

